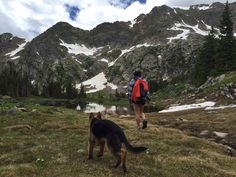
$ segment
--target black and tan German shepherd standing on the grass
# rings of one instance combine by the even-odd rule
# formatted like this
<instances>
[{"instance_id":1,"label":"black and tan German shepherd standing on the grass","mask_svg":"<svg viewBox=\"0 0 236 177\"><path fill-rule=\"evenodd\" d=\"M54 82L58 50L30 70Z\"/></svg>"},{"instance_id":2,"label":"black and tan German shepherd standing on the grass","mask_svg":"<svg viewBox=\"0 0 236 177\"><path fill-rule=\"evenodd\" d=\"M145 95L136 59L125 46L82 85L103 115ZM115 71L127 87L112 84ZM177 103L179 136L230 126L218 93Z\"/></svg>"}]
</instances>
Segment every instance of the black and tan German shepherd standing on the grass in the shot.
<instances>
[{"instance_id":1,"label":"black and tan German shepherd standing on the grass","mask_svg":"<svg viewBox=\"0 0 236 177\"><path fill-rule=\"evenodd\" d=\"M108 149L117 159L115 168L122 164L124 172L126 169L126 149L132 153L141 153L145 151L146 147L133 147L129 144L123 130L114 122L110 120L102 120L101 113L99 112L95 117L93 113L89 116L90 121L90 133L89 133L89 147L88 147L88 159L93 158L93 149L96 142L100 145L100 151L98 157L103 156L105 144ZM126 147L123 148L123 146Z\"/></svg>"}]
</instances>

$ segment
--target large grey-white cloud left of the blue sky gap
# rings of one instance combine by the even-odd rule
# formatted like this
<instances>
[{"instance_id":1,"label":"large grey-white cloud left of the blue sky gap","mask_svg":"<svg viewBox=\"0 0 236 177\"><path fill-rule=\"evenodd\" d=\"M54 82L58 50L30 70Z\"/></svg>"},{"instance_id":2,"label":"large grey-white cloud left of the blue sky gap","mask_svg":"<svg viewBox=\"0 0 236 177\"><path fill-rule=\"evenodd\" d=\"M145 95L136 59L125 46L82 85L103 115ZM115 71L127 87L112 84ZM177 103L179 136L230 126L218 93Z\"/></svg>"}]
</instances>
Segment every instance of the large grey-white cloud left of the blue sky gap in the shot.
<instances>
[{"instance_id":1,"label":"large grey-white cloud left of the blue sky gap","mask_svg":"<svg viewBox=\"0 0 236 177\"><path fill-rule=\"evenodd\" d=\"M18 35L17 31L24 31L28 34L24 37L30 39L58 21L73 24L64 4L61 0L50 0L50 2L46 2L46 0L0 0L0 12L8 19L1 18L7 23L8 28L1 29L0 33L12 32L14 35Z\"/></svg>"}]
</instances>

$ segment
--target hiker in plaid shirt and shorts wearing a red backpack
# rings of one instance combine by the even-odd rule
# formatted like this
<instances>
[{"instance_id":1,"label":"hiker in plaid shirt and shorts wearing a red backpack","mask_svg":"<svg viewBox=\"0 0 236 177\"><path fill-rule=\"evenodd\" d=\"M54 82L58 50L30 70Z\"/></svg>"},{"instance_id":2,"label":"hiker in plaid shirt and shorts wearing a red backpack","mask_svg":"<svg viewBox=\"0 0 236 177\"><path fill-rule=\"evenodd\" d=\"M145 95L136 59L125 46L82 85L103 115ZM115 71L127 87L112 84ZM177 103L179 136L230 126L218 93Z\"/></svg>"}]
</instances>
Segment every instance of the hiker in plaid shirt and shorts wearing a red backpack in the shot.
<instances>
[{"instance_id":1,"label":"hiker in plaid shirt and shorts wearing a red backpack","mask_svg":"<svg viewBox=\"0 0 236 177\"><path fill-rule=\"evenodd\" d=\"M150 98L148 84L144 79L142 79L142 73L139 70L133 73L133 78L130 80L128 97L130 104L132 104L134 108L137 128L141 128L141 122L142 128L147 128L147 120L143 109L145 103L150 101Z\"/></svg>"}]
</instances>

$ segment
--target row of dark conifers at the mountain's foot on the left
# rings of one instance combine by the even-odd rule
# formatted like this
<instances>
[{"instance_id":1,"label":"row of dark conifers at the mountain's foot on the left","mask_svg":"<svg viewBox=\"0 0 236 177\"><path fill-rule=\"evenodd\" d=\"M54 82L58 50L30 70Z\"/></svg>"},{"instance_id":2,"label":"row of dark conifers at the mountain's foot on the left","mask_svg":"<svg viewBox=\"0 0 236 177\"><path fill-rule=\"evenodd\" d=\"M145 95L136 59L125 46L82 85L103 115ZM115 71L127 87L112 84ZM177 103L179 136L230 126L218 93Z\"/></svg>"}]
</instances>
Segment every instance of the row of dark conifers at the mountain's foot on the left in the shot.
<instances>
[{"instance_id":1,"label":"row of dark conifers at the mountain's foot on the left","mask_svg":"<svg viewBox=\"0 0 236 177\"><path fill-rule=\"evenodd\" d=\"M54 74L55 79L48 79L47 83L42 83L33 80L23 66L19 68L14 62L8 61L0 73L0 95L67 99L86 97L84 86L81 85L80 91L76 89L75 79L66 74L63 65L59 64Z\"/></svg>"}]
</instances>

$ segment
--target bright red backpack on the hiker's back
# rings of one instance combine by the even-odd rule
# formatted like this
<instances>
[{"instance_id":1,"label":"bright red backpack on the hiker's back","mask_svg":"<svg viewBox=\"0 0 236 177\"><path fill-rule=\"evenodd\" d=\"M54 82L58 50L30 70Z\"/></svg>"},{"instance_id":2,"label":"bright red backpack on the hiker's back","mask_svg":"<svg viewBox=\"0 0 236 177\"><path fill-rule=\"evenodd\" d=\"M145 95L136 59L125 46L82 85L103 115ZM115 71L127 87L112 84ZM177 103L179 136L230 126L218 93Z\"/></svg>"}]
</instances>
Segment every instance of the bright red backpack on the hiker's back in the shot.
<instances>
[{"instance_id":1,"label":"bright red backpack on the hiker's back","mask_svg":"<svg viewBox=\"0 0 236 177\"><path fill-rule=\"evenodd\" d=\"M148 83L143 79L138 79L134 83L134 87L131 93L131 100L134 102L145 100L147 92Z\"/></svg>"}]
</instances>

